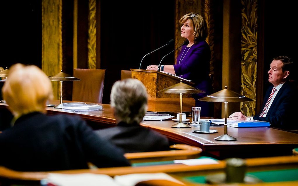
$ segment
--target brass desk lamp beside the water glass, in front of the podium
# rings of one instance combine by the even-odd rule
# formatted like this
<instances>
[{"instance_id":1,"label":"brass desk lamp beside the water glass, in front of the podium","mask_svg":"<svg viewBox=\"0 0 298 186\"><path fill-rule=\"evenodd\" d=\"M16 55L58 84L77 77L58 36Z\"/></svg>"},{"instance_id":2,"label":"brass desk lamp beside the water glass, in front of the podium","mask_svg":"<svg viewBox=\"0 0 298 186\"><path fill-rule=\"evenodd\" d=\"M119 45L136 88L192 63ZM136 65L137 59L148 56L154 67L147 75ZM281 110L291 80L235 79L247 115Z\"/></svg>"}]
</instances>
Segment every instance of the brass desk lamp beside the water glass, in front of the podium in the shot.
<instances>
[{"instance_id":1,"label":"brass desk lamp beside the water glass, in front of the podium","mask_svg":"<svg viewBox=\"0 0 298 186\"><path fill-rule=\"evenodd\" d=\"M174 94L180 94L180 117L179 117L179 123L172 125L172 128L190 128L189 125L184 124L182 122L182 94L195 94L195 93L205 93L202 90L199 90L195 87L192 87L190 85L187 85L185 83L182 83L182 80L180 80L180 83L177 83L175 85L172 85L170 87L167 87L163 90L159 90L160 93L174 93Z\"/></svg>"}]
</instances>

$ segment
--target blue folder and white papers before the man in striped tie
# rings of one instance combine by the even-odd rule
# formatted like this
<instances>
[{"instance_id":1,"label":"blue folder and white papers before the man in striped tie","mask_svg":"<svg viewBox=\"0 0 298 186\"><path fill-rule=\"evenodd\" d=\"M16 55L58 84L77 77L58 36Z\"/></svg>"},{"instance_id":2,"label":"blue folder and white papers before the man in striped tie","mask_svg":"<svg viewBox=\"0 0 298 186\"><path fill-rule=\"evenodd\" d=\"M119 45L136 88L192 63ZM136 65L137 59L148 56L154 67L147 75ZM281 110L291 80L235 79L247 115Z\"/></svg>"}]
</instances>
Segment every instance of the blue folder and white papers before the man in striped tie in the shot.
<instances>
[{"instance_id":1,"label":"blue folder and white papers before the man in striped tie","mask_svg":"<svg viewBox=\"0 0 298 186\"><path fill-rule=\"evenodd\" d=\"M210 119L214 124L225 124L225 119ZM226 124L232 127L266 127L270 126L270 123L267 121L235 121L235 120L226 120Z\"/></svg>"}]
</instances>

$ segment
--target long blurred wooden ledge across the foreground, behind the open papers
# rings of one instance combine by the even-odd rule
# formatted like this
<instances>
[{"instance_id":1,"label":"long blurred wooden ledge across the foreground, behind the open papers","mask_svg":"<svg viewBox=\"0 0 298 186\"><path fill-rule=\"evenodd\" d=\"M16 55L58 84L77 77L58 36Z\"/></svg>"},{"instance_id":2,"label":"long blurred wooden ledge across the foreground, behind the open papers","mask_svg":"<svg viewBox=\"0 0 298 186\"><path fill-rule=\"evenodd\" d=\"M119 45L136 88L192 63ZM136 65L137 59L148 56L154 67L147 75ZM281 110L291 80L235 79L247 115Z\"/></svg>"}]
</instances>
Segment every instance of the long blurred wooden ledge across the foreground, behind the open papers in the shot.
<instances>
[{"instance_id":1,"label":"long blurred wooden ledge across the foreground, behind the open papers","mask_svg":"<svg viewBox=\"0 0 298 186\"><path fill-rule=\"evenodd\" d=\"M298 168L297 156L283 157L267 157L267 158L250 158L246 159L247 171L268 171L276 169ZM50 171L50 172L21 172L14 171L0 166L0 178L8 180L22 181L39 181L47 177L49 173L60 174L107 174L109 176L135 174L135 173L159 173L164 172L176 178L184 176L204 176L207 174L216 174L224 171L225 161L218 161L218 164L211 165L154 165L143 167L119 167L119 168L97 168L97 169L80 169L66 171ZM297 181L295 182L297 183Z\"/></svg>"}]
</instances>

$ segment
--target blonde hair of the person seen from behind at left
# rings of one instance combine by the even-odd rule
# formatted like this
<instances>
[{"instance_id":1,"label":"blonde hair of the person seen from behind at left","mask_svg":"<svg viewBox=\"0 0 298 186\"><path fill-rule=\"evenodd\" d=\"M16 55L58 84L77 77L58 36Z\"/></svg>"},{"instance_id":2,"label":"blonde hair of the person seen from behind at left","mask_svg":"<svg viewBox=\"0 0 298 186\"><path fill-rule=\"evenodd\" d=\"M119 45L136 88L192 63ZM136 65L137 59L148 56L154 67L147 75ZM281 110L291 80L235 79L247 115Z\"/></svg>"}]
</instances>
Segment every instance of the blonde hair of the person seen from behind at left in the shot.
<instances>
[{"instance_id":1,"label":"blonde hair of the person seen from behind at left","mask_svg":"<svg viewBox=\"0 0 298 186\"><path fill-rule=\"evenodd\" d=\"M37 66L13 65L2 88L3 98L18 118L30 112L44 112L47 99L52 99L52 85Z\"/></svg>"}]
</instances>

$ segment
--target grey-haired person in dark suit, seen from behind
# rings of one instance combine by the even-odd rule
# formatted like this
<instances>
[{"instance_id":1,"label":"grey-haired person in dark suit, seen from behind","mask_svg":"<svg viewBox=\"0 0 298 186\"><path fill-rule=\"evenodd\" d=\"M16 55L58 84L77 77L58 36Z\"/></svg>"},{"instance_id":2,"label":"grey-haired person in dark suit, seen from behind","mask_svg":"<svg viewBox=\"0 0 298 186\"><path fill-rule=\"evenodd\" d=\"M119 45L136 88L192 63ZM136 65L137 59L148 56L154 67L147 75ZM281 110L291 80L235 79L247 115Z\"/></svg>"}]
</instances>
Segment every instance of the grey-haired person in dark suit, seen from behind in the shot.
<instances>
[{"instance_id":1,"label":"grey-haired person in dark suit, seen from behind","mask_svg":"<svg viewBox=\"0 0 298 186\"><path fill-rule=\"evenodd\" d=\"M111 90L111 107L117 126L96 133L128 152L162 151L169 148L165 136L139 123L147 111L147 91L137 79L115 82Z\"/></svg>"}]
</instances>

